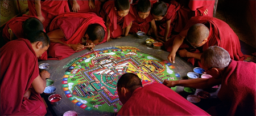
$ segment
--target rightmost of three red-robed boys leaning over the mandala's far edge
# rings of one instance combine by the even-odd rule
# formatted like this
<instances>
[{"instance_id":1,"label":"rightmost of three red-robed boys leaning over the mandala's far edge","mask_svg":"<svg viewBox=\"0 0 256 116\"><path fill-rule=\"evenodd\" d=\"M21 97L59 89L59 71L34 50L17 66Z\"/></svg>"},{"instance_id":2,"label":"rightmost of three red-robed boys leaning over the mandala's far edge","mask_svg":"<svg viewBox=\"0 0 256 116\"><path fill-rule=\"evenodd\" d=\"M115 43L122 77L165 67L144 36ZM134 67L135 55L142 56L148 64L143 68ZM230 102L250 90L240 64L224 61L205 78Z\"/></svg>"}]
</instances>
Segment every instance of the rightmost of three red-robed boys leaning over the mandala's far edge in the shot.
<instances>
[{"instance_id":1,"label":"rightmost of three red-robed boys leaning over the mandala's far edge","mask_svg":"<svg viewBox=\"0 0 256 116\"><path fill-rule=\"evenodd\" d=\"M172 1L172 3L164 3L162 1L154 3L151 14L155 19L158 38L162 38L161 41L165 42L168 37L171 36L172 28L174 27L174 20L177 17L176 11L179 10L177 2Z\"/></svg>"}]
</instances>

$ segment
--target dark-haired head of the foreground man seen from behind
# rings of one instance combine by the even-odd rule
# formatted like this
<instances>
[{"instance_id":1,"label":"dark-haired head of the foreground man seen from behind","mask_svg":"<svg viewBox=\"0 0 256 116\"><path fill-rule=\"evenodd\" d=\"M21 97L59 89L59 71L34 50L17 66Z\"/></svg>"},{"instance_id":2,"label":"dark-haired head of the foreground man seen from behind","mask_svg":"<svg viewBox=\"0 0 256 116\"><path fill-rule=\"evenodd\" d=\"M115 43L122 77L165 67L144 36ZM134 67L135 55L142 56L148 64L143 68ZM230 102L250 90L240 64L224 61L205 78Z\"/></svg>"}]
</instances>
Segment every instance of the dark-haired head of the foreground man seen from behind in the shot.
<instances>
[{"instance_id":1,"label":"dark-haired head of the foreground man seen from behind","mask_svg":"<svg viewBox=\"0 0 256 116\"><path fill-rule=\"evenodd\" d=\"M135 89L139 87L142 87L142 82L136 74L123 74L117 82L117 92L119 100L122 102L122 104L125 104Z\"/></svg>"}]
</instances>

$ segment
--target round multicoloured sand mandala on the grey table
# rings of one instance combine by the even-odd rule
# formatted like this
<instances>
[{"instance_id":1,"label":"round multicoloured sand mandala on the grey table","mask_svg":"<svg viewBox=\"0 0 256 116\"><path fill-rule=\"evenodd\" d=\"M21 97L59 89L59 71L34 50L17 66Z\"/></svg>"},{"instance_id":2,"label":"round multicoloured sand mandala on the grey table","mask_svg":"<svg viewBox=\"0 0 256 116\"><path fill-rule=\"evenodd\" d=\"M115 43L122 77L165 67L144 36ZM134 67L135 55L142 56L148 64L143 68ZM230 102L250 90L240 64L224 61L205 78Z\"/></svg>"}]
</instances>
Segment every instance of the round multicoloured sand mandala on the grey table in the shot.
<instances>
[{"instance_id":1,"label":"round multicoloured sand mandala on the grey table","mask_svg":"<svg viewBox=\"0 0 256 116\"><path fill-rule=\"evenodd\" d=\"M140 53L128 46L94 50L80 55L64 67L63 89L74 104L85 110L115 113L122 107L117 81L126 72L137 74L143 86L177 80L175 68L167 61ZM176 88L171 88L175 91Z\"/></svg>"}]
</instances>

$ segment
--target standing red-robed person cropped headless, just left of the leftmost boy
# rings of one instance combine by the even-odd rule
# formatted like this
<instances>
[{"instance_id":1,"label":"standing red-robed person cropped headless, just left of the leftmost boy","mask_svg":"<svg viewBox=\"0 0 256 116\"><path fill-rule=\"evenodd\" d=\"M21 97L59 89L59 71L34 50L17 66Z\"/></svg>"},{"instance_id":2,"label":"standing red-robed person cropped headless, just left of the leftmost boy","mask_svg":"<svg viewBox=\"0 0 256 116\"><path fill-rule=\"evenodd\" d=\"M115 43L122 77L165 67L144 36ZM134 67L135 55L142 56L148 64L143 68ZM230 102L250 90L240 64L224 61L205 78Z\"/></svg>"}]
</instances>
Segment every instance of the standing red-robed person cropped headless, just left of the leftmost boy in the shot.
<instances>
[{"instance_id":1,"label":"standing red-robed person cropped headless, just left of the leftmost boy","mask_svg":"<svg viewBox=\"0 0 256 116\"><path fill-rule=\"evenodd\" d=\"M100 16L101 10L101 3L105 2L105 0L88 0L88 1L81 1L81 0L69 0L71 4L73 12L94 12L98 16Z\"/></svg>"}]
</instances>

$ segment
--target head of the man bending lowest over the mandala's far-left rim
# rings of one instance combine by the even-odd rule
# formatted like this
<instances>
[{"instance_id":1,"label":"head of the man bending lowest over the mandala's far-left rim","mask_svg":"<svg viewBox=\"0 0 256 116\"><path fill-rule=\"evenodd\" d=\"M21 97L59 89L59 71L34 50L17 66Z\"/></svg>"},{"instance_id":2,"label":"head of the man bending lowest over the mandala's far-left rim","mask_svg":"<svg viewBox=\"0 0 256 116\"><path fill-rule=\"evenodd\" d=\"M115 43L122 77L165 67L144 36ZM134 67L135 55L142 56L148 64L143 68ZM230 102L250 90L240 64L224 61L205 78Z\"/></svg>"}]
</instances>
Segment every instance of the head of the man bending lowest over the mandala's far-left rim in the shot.
<instances>
[{"instance_id":1,"label":"head of the man bending lowest over the mandala's far-left rim","mask_svg":"<svg viewBox=\"0 0 256 116\"><path fill-rule=\"evenodd\" d=\"M86 41L98 44L104 40L105 30L100 24L90 24L85 32Z\"/></svg>"}]
</instances>

